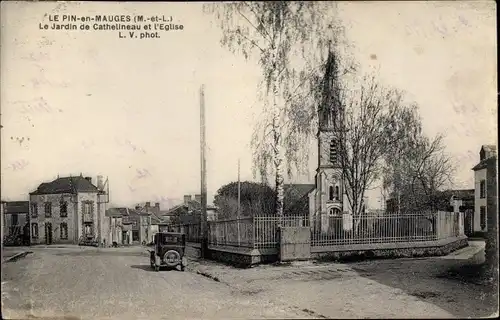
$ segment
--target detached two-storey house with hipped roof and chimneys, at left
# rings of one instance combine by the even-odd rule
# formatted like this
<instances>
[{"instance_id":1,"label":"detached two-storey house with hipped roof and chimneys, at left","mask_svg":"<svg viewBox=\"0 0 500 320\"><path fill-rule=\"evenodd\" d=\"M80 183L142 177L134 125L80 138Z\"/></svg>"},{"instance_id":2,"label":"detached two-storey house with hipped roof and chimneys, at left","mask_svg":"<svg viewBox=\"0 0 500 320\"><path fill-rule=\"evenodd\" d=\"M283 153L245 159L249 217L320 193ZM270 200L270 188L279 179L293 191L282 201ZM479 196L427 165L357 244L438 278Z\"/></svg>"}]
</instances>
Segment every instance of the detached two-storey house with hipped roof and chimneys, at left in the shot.
<instances>
[{"instance_id":1,"label":"detached two-storey house with hipped roof and chimneys, at left","mask_svg":"<svg viewBox=\"0 0 500 320\"><path fill-rule=\"evenodd\" d=\"M102 177L58 177L30 193L32 244L101 243L105 225L107 192Z\"/></svg>"}]
</instances>

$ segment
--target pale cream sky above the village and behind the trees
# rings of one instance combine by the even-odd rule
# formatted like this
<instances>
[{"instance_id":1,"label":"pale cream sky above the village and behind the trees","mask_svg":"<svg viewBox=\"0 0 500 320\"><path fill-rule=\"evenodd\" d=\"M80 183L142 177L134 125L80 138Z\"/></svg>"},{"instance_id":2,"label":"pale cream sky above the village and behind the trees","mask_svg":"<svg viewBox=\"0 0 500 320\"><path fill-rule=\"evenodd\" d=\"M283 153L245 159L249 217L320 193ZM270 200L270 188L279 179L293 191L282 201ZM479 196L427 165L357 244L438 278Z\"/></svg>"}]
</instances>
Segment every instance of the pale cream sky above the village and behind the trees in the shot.
<instances>
[{"instance_id":1,"label":"pale cream sky above the village and behind the trees","mask_svg":"<svg viewBox=\"0 0 500 320\"><path fill-rule=\"evenodd\" d=\"M109 177L111 202L200 193L199 88L205 85L207 187L254 180L250 138L260 112L256 61L222 48L201 3L2 2L1 197L57 176ZM430 136L446 134L456 188L473 188L482 144L497 144L494 2L340 2L359 72L404 90ZM48 15L165 15L182 31L41 30ZM126 34L126 32L123 32ZM310 174L287 182L313 183ZM378 206L375 191L369 204Z\"/></svg>"}]
</instances>

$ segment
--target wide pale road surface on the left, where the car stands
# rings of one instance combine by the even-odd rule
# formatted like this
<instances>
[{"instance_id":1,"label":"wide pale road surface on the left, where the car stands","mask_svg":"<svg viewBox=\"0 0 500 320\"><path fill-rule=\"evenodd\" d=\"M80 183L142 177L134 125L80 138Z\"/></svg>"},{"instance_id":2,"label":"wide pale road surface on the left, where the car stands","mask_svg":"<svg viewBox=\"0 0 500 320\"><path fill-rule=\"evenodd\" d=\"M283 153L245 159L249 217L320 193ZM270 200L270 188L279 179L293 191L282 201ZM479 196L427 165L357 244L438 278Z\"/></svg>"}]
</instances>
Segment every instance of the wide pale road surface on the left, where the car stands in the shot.
<instances>
[{"instance_id":1,"label":"wide pale road surface on the left, where the car stands","mask_svg":"<svg viewBox=\"0 0 500 320\"><path fill-rule=\"evenodd\" d=\"M4 318L313 318L193 272L151 271L141 248L32 251L2 266Z\"/></svg>"}]
</instances>

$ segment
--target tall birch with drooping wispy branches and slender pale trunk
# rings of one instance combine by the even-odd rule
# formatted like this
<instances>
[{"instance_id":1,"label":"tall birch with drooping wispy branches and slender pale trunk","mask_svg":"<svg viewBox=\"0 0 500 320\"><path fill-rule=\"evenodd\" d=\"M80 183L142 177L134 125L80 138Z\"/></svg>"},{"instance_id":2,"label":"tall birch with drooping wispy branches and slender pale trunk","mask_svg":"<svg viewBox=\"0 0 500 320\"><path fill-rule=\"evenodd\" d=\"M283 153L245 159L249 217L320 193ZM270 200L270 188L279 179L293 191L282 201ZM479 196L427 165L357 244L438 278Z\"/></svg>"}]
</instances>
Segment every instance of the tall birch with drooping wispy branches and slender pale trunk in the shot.
<instances>
[{"instance_id":1,"label":"tall birch with drooping wispy branches and slender pale trunk","mask_svg":"<svg viewBox=\"0 0 500 320\"><path fill-rule=\"evenodd\" d=\"M282 216L285 165L290 174L293 164L307 158L300 146L314 119L310 108L301 105L307 99L304 84L321 69L313 62L316 48L335 37L338 24L331 17L324 23L329 8L321 2L235 2L205 8L215 13L222 45L246 59L256 56L262 68L264 112L252 137L254 174L259 171L263 179L274 174L276 215Z\"/></svg>"}]
</instances>

